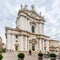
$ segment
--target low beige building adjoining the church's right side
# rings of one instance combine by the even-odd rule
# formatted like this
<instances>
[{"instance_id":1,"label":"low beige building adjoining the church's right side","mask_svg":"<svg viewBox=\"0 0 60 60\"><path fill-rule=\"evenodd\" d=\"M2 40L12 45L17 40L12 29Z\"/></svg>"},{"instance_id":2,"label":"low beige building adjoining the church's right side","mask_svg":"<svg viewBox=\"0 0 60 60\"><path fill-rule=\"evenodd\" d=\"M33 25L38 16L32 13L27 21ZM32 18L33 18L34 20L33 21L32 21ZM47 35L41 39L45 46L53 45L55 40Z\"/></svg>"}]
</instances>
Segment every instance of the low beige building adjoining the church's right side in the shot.
<instances>
[{"instance_id":1,"label":"low beige building adjoining the church's right side","mask_svg":"<svg viewBox=\"0 0 60 60\"><path fill-rule=\"evenodd\" d=\"M49 51L58 54L58 52L60 52L59 51L59 45L60 45L59 41L51 39L49 41Z\"/></svg>"}]
</instances>

